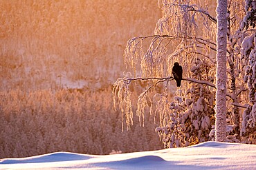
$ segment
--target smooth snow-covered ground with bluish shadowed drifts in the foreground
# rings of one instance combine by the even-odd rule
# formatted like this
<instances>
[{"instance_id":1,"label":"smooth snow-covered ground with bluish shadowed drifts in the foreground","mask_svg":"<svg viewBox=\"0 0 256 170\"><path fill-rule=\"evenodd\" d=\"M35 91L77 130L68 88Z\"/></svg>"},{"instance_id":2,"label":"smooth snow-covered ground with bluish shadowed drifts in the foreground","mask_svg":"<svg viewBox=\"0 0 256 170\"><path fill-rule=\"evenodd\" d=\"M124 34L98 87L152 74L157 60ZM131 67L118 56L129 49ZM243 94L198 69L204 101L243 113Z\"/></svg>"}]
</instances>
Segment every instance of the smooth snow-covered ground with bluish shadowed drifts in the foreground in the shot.
<instances>
[{"instance_id":1,"label":"smooth snow-covered ground with bluish shadowed drifts in the foreground","mask_svg":"<svg viewBox=\"0 0 256 170\"><path fill-rule=\"evenodd\" d=\"M204 142L107 156L56 152L2 159L0 169L256 169L256 145Z\"/></svg>"}]
</instances>

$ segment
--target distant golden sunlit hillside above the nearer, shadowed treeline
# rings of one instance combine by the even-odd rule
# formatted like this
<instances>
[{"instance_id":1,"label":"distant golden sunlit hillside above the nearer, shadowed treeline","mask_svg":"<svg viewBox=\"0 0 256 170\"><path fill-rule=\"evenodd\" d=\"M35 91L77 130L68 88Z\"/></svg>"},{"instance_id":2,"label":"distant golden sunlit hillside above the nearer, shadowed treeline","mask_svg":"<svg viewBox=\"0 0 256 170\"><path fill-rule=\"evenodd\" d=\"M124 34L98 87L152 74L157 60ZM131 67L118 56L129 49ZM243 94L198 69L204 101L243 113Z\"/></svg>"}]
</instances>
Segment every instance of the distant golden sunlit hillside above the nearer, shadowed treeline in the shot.
<instances>
[{"instance_id":1,"label":"distant golden sunlit hillside above the nearer, shadowed treeline","mask_svg":"<svg viewBox=\"0 0 256 170\"><path fill-rule=\"evenodd\" d=\"M100 89L124 70L128 39L154 33L156 1L1 1L0 65L7 89Z\"/></svg>"}]
</instances>

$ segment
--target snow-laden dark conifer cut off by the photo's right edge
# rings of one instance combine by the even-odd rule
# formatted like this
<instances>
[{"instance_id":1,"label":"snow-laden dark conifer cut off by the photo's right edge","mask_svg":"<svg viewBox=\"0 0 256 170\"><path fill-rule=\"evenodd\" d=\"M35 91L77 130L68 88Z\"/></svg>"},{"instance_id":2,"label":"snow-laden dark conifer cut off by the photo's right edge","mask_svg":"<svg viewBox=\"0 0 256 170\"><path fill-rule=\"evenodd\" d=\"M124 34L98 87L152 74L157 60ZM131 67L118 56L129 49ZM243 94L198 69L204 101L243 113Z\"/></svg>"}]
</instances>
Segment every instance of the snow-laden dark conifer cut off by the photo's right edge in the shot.
<instances>
[{"instance_id":1,"label":"snow-laden dark conifer cut off by the photo's right edge","mask_svg":"<svg viewBox=\"0 0 256 170\"><path fill-rule=\"evenodd\" d=\"M248 86L250 103L244 110L241 136L247 142L255 142L256 129L256 1L246 0L246 16L241 22L244 39L241 43L241 60L244 61L244 81Z\"/></svg>"}]
</instances>

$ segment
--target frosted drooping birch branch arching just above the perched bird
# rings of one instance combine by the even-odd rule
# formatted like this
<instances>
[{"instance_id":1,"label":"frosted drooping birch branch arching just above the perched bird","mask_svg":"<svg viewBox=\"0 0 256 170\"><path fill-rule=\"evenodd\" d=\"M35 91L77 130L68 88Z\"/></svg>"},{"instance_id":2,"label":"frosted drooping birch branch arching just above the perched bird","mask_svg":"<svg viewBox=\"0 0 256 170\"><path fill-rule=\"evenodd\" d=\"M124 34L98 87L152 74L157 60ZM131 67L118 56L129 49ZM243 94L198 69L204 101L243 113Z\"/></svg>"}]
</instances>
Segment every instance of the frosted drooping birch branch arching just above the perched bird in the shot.
<instances>
[{"instance_id":1,"label":"frosted drooping birch branch arching just above the perched bird","mask_svg":"<svg viewBox=\"0 0 256 170\"><path fill-rule=\"evenodd\" d=\"M151 42L146 52L143 52L143 42L150 39ZM192 41L190 45L184 46L183 41L180 45L172 44L170 41L179 42L180 40L190 40ZM195 44L196 42L196 44ZM182 44L182 45L181 45ZM150 36L136 36L127 41L127 46L125 48L124 61L125 64L130 67L134 75L140 67L140 71L143 77L158 76L163 77L166 65L166 54L167 45L176 45L175 52L181 54L185 52L187 55L189 52L198 50L193 48L197 47L209 47L210 50L216 51L216 43L210 39L204 39L201 36L184 36L184 35L150 35ZM172 46L171 46L172 47ZM188 49L188 47L190 47ZM178 50L178 51L177 51ZM191 53L190 53L191 54ZM199 53L194 53L199 54ZM208 57L208 59L210 59ZM210 59L212 63L215 63L213 59ZM169 63L168 63L169 64Z\"/></svg>"}]
</instances>

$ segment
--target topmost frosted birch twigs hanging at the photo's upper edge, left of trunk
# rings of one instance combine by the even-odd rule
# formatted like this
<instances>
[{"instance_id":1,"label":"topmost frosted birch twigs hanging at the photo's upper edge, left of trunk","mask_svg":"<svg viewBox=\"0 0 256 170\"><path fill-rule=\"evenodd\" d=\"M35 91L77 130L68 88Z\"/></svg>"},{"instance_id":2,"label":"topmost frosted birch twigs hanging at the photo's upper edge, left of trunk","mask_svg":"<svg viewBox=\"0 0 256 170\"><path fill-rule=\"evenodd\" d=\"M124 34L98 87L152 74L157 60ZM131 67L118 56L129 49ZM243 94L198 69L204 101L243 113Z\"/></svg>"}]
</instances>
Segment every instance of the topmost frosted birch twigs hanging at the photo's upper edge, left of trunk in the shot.
<instances>
[{"instance_id":1,"label":"topmost frosted birch twigs hanging at the photo's upper edge, left of trunk","mask_svg":"<svg viewBox=\"0 0 256 170\"><path fill-rule=\"evenodd\" d=\"M209 25L217 25L217 19L201 6L192 1L170 1L163 0L163 17L158 20L155 28L155 34L177 34L192 35L196 34L199 25L203 25L209 31ZM188 4L185 4L188 3ZM196 3L196 2L194 2ZM198 2L197 2L198 3ZM209 23L211 21L211 23Z\"/></svg>"}]
</instances>

